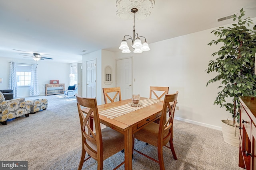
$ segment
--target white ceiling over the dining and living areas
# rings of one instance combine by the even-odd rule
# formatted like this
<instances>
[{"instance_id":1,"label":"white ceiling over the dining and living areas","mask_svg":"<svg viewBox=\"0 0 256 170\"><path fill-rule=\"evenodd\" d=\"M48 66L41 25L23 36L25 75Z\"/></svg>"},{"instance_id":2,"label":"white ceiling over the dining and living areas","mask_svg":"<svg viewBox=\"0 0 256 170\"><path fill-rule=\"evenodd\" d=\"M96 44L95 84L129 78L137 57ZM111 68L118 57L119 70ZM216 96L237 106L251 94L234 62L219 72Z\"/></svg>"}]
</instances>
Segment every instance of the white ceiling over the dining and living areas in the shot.
<instances>
[{"instance_id":1,"label":"white ceiling over the dining and living areas","mask_svg":"<svg viewBox=\"0 0 256 170\"><path fill-rule=\"evenodd\" d=\"M241 8L256 17L256 0L155 0L150 16L135 21L136 33L150 45L232 23L216 19ZM124 35L133 34L133 20L116 11L116 0L0 0L0 57L32 60L20 55L26 51L74 63L99 49L119 51Z\"/></svg>"}]
</instances>

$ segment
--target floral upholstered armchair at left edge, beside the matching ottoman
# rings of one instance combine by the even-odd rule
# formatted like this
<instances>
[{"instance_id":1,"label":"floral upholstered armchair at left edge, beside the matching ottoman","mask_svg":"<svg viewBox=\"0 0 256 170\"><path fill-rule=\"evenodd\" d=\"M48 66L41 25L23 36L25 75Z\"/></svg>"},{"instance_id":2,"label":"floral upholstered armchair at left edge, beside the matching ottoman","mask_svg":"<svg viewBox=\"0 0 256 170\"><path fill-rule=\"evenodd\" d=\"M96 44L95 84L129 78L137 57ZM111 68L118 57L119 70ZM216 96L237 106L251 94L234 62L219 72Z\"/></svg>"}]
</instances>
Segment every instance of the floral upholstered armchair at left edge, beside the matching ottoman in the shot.
<instances>
[{"instance_id":1,"label":"floral upholstered armchair at left edge, beside the matching ottoman","mask_svg":"<svg viewBox=\"0 0 256 170\"><path fill-rule=\"evenodd\" d=\"M30 101L25 98L4 100L4 95L0 92L0 123L7 124L8 119L25 115L28 117L30 113Z\"/></svg>"}]
</instances>

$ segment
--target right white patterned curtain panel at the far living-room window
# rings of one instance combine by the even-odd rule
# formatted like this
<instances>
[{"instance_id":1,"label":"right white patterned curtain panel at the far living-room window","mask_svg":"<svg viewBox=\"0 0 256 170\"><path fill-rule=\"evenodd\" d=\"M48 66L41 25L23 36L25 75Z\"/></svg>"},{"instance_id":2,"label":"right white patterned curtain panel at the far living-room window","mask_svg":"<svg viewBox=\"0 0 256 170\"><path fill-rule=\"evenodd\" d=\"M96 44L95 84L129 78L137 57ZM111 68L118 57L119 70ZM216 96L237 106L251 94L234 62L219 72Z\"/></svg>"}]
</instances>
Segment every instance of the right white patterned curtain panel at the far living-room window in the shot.
<instances>
[{"instance_id":1,"label":"right white patterned curtain panel at the far living-room window","mask_svg":"<svg viewBox=\"0 0 256 170\"><path fill-rule=\"evenodd\" d=\"M37 64L32 64L29 96L38 96L39 94Z\"/></svg>"}]
</instances>

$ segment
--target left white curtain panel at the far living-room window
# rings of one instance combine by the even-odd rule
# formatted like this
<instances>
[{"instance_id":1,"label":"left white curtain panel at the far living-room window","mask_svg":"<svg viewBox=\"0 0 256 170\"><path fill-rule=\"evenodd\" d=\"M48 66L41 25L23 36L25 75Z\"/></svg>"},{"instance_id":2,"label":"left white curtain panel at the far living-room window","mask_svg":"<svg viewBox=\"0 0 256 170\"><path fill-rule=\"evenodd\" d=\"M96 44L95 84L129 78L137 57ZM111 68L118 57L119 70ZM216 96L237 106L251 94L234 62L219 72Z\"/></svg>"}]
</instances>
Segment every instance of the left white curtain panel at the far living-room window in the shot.
<instances>
[{"instance_id":1,"label":"left white curtain panel at the far living-room window","mask_svg":"<svg viewBox=\"0 0 256 170\"><path fill-rule=\"evenodd\" d=\"M16 63L10 63L10 76L9 76L9 89L13 90L14 98L17 97L17 76L16 76Z\"/></svg>"}]
</instances>

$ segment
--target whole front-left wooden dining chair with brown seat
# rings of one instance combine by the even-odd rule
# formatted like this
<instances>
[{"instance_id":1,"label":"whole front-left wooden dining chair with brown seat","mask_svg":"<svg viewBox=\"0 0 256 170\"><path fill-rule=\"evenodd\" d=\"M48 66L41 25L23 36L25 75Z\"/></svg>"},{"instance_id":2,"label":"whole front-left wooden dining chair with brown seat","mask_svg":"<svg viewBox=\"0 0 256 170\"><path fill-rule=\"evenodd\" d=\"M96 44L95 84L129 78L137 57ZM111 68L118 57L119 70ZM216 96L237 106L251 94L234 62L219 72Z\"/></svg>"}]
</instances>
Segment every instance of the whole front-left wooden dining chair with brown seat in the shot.
<instances>
[{"instance_id":1,"label":"whole front-left wooden dining chair with brown seat","mask_svg":"<svg viewBox=\"0 0 256 170\"><path fill-rule=\"evenodd\" d=\"M97 169L102 170L103 160L124 149L124 135L110 127L100 129L96 98L83 98L76 94L76 103L82 132L82 155L78 170L82 169L84 162L89 158L94 158L98 163ZM87 108L86 114L82 112L81 107ZM94 119L95 133L90 127L90 123L93 122L90 120L91 116ZM86 152L88 153L88 158L85 159ZM119 168L122 164L124 164L124 162L114 169Z\"/></svg>"}]
</instances>

